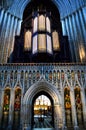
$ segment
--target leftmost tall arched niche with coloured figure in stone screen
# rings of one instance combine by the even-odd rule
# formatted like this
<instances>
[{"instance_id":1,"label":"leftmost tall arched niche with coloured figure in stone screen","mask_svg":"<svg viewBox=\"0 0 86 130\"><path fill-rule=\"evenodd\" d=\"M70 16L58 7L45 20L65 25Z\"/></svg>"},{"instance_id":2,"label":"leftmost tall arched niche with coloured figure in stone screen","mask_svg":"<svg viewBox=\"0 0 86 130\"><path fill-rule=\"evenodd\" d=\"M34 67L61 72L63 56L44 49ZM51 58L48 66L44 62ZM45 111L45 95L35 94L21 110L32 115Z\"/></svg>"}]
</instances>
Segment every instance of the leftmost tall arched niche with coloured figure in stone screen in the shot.
<instances>
[{"instance_id":1,"label":"leftmost tall arched niche with coloured figure in stone screen","mask_svg":"<svg viewBox=\"0 0 86 130\"><path fill-rule=\"evenodd\" d=\"M2 114L2 127L5 129L9 122L9 107L10 107L10 88L6 87L4 90L3 114Z\"/></svg>"}]
</instances>

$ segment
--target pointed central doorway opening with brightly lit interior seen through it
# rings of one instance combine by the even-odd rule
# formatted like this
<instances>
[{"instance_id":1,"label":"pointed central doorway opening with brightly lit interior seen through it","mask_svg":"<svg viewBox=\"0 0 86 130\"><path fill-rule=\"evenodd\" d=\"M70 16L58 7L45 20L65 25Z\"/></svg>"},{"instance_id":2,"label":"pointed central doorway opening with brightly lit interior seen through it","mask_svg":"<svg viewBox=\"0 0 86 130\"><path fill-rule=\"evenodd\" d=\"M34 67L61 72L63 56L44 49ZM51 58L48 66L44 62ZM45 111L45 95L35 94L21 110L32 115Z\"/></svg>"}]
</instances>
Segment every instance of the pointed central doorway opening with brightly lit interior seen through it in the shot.
<instances>
[{"instance_id":1,"label":"pointed central doorway opening with brightly lit interior seen through it","mask_svg":"<svg viewBox=\"0 0 86 130\"><path fill-rule=\"evenodd\" d=\"M32 128L54 128L53 100L42 91L35 95L32 105Z\"/></svg>"}]
</instances>

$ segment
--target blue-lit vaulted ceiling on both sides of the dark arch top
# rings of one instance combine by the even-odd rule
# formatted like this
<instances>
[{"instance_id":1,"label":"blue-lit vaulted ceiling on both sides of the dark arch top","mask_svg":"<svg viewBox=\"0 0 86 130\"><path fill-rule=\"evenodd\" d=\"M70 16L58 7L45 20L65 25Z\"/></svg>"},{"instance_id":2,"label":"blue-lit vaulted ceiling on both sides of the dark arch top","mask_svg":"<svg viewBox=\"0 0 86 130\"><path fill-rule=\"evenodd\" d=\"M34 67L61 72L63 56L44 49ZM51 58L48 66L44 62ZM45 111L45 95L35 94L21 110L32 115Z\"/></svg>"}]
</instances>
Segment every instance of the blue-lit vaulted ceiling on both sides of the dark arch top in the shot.
<instances>
[{"instance_id":1,"label":"blue-lit vaulted ceiling on both sides of the dark arch top","mask_svg":"<svg viewBox=\"0 0 86 130\"><path fill-rule=\"evenodd\" d=\"M0 4L12 14L22 18L26 5L31 0L1 0ZM51 0L59 9L61 18L86 5L86 0Z\"/></svg>"}]
</instances>

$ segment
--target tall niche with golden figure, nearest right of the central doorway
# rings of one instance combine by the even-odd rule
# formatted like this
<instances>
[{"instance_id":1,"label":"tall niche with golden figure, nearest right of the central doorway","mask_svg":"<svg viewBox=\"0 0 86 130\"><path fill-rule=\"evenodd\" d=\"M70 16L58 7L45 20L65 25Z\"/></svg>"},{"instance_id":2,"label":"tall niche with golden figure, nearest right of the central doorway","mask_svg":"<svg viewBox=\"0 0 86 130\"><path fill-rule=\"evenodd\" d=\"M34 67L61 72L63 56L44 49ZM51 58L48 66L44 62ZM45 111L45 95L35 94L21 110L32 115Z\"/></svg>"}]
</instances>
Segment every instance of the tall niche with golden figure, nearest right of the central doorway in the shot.
<instances>
[{"instance_id":1,"label":"tall niche with golden figure, nearest right of the central doorway","mask_svg":"<svg viewBox=\"0 0 86 130\"><path fill-rule=\"evenodd\" d=\"M64 89L64 106L65 106L66 125L70 127L72 125L72 112L71 112L71 99L70 99L69 87L65 87Z\"/></svg>"}]
</instances>

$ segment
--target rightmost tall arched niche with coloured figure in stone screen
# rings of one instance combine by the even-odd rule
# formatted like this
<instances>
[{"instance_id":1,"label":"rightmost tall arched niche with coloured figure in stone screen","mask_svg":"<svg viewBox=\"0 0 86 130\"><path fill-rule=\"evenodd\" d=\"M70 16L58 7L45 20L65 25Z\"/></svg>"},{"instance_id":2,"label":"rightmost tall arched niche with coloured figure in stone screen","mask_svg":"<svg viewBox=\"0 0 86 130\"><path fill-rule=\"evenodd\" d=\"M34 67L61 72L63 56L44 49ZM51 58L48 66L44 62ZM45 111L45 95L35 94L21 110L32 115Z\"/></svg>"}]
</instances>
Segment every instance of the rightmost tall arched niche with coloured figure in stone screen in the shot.
<instances>
[{"instance_id":1,"label":"rightmost tall arched niche with coloured figure in stone screen","mask_svg":"<svg viewBox=\"0 0 86 130\"><path fill-rule=\"evenodd\" d=\"M82 100L81 100L81 90L79 86L75 87L74 93L75 93L77 121L78 121L78 125L82 125L83 124L83 109L82 109Z\"/></svg>"}]
</instances>

